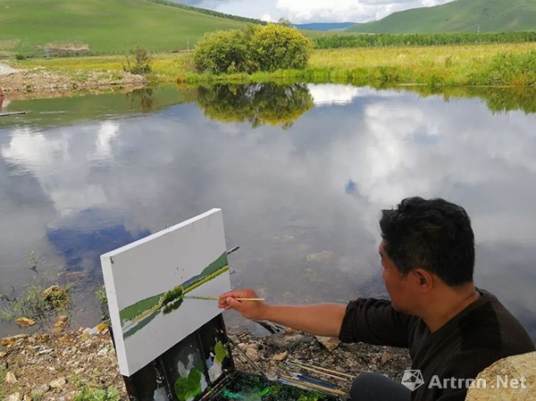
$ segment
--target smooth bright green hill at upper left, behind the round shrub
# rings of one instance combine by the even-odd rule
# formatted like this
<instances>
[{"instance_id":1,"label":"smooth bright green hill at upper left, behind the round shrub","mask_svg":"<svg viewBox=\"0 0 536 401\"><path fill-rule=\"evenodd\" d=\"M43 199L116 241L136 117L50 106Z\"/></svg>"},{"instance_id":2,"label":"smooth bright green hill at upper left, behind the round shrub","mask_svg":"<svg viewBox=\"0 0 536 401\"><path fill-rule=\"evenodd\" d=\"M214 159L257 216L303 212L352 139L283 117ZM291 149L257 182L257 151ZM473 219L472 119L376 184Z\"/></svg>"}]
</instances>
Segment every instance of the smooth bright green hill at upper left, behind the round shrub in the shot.
<instances>
[{"instance_id":1,"label":"smooth bright green hill at upper left, behind the round shrub","mask_svg":"<svg viewBox=\"0 0 536 401\"><path fill-rule=\"evenodd\" d=\"M230 18L163 1L0 0L0 55L45 54L46 47L126 53L138 45L169 52L193 47L207 31L254 21Z\"/></svg>"}]
</instances>

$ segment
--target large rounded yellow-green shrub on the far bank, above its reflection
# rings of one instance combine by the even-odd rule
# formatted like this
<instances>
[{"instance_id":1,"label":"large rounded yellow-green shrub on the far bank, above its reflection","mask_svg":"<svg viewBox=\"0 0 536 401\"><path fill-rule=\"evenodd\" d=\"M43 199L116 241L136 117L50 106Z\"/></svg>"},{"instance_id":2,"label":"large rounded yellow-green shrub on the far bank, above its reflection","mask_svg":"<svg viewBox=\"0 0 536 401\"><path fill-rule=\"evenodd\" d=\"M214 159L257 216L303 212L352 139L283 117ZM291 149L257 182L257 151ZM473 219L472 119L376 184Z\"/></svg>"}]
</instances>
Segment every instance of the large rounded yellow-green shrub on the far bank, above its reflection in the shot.
<instances>
[{"instance_id":1,"label":"large rounded yellow-green shrub on the far bank, above its reflection","mask_svg":"<svg viewBox=\"0 0 536 401\"><path fill-rule=\"evenodd\" d=\"M205 35L197 44L194 63L198 72L212 74L303 69L312 50L312 42L297 29L250 25Z\"/></svg>"}]
</instances>

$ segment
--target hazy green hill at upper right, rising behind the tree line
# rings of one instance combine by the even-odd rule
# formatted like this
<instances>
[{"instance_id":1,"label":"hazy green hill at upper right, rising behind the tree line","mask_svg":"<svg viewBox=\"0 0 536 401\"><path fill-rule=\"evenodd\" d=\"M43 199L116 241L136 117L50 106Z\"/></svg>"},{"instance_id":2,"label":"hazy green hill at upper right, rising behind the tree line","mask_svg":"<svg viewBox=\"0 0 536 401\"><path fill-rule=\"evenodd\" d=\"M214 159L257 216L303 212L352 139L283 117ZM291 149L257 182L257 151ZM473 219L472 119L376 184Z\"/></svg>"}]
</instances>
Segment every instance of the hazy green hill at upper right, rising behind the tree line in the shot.
<instances>
[{"instance_id":1,"label":"hazy green hill at upper right, rising behind the tree line","mask_svg":"<svg viewBox=\"0 0 536 401\"><path fill-rule=\"evenodd\" d=\"M346 29L366 33L499 32L536 29L536 0L457 0L392 13Z\"/></svg>"}]
</instances>

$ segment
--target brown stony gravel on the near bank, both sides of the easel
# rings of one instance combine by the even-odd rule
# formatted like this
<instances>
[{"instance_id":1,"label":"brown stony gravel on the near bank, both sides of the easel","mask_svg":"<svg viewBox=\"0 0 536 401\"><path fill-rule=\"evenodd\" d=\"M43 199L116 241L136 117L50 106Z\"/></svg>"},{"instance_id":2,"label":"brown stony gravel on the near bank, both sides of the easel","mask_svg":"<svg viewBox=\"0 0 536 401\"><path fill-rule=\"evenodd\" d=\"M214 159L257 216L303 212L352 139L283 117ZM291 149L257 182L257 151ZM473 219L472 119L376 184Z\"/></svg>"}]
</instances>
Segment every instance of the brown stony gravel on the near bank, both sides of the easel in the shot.
<instances>
[{"instance_id":1,"label":"brown stony gravel on the near bank, both sides of the easel","mask_svg":"<svg viewBox=\"0 0 536 401\"><path fill-rule=\"evenodd\" d=\"M4 347L0 347L0 399L31 397L34 401L72 401L85 385L89 388L117 388L121 400L128 400L112 339L104 327L99 325L96 330L21 334L0 339ZM299 368L290 363L301 361L351 376L371 371L400 380L410 363L404 349L339 344L330 351L317 338L294 330L263 338L244 330L229 333L229 337L241 351L232 347L236 367L253 373L257 373L258 369L268 377L297 372ZM256 367L242 353L255 360ZM350 381L316 376L348 391Z\"/></svg>"}]
</instances>

